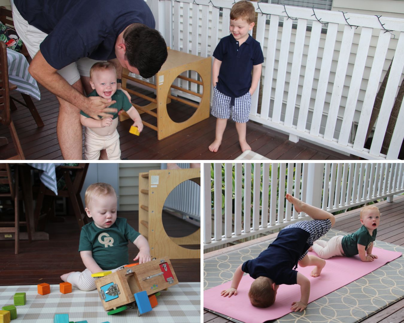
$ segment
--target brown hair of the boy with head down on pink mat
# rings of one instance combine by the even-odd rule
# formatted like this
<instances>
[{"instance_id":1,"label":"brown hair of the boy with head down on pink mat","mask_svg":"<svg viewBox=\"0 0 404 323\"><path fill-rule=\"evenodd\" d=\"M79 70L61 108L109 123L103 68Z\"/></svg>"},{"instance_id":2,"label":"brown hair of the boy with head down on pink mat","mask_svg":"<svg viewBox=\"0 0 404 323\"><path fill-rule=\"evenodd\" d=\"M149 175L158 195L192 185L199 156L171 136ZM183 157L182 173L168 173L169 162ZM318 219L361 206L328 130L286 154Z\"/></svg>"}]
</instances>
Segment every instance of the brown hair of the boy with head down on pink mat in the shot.
<instances>
[{"instance_id":1,"label":"brown hair of the boy with head down on pink mat","mask_svg":"<svg viewBox=\"0 0 404 323\"><path fill-rule=\"evenodd\" d=\"M268 307L274 304L276 293L272 288L274 281L268 277L260 276L255 279L248 292L252 306Z\"/></svg>"}]
</instances>

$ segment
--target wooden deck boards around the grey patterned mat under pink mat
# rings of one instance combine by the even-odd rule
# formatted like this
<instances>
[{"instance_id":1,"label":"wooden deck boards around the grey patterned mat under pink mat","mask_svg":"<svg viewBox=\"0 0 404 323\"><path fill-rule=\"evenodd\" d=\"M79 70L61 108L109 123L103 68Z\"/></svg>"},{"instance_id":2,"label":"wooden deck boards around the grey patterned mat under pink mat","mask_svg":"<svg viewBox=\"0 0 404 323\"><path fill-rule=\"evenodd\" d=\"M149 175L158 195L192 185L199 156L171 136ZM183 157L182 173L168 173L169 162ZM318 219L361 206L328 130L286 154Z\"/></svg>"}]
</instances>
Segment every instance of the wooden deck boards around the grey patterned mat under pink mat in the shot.
<instances>
[{"instance_id":1,"label":"wooden deck boards around the grey patterned mat under pink mat","mask_svg":"<svg viewBox=\"0 0 404 323\"><path fill-rule=\"evenodd\" d=\"M392 203L387 201L377 203L377 207L381 212L381 220L379 227L377 228L377 240L393 243L396 245L404 246L404 195L394 199ZM336 222L333 229L352 233L358 230L361 226L359 222L359 210L352 210L336 216ZM210 258L231 252L234 249L245 247L246 245L252 245L261 241L276 237L276 233L267 237L241 243L240 245L223 248L214 252L210 252L204 255L204 258ZM231 321L220 317L214 313L204 310L204 323L230 323ZM404 322L404 299L391 304L387 308L375 313L362 322L366 323L387 323ZM269 321L267 322L269 323Z\"/></svg>"}]
</instances>

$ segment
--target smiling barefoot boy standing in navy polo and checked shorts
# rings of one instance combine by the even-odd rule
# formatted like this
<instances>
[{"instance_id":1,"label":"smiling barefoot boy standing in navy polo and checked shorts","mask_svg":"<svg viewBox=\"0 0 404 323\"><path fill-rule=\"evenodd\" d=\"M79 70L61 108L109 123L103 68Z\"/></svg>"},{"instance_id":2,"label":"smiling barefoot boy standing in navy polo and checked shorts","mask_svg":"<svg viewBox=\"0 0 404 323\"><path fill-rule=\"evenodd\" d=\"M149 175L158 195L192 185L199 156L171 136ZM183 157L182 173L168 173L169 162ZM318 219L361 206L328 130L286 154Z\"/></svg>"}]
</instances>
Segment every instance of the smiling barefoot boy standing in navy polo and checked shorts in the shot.
<instances>
[{"instance_id":1,"label":"smiling barefoot boy standing in navy polo and checked shorts","mask_svg":"<svg viewBox=\"0 0 404 323\"><path fill-rule=\"evenodd\" d=\"M246 141L246 122L251 95L258 86L264 62L261 45L248 34L255 25L254 20L255 8L250 1L234 4L230 11L230 35L223 37L213 52L211 113L217 117L215 141L209 146L213 152L221 145L230 112L236 122L241 150L251 149Z\"/></svg>"}]
</instances>

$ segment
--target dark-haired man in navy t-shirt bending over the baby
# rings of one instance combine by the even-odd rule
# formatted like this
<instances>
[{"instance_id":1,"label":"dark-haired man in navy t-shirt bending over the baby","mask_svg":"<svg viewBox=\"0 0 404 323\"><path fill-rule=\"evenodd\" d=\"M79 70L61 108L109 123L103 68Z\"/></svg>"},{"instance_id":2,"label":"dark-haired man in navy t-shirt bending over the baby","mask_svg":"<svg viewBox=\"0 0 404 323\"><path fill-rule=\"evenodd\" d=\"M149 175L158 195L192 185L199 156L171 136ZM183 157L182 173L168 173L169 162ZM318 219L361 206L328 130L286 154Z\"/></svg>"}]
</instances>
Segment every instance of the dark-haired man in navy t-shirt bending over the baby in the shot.
<instances>
[{"instance_id":1,"label":"dark-haired man in navy t-shirt bending over the baby","mask_svg":"<svg viewBox=\"0 0 404 323\"><path fill-rule=\"evenodd\" d=\"M80 109L95 119L116 112L108 108L115 101L84 96L96 61L113 63L119 83L122 68L150 78L167 58L143 0L14 0L13 19L33 58L29 72L59 100L57 136L65 159L82 159Z\"/></svg>"}]
</instances>

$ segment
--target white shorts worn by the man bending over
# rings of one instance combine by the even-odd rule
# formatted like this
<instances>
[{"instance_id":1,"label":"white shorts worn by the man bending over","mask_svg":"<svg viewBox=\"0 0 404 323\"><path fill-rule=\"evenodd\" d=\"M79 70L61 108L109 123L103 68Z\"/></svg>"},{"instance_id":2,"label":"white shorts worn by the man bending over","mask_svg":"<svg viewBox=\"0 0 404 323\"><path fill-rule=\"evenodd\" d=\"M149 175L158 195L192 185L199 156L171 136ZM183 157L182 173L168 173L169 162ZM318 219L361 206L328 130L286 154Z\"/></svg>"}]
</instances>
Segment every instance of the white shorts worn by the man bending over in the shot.
<instances>
[{"instance_id":1,"label":"white shorts worn by the man bending over","mask_svg":"<svg viewBox=\"0 0 404 323\"><path fill-rule=\"evenodd\" d=\"M29 56L34 58L39 51L39 45L48 34L40 31L38 28L29 25L23 17L21 17L17 8L13 6L13 21L17 34L25 44ZM63 69L57 71L70 85L80 80L80 76L90 76L90 68L96 60L90 58L81 58L77 62L71 63Z\"/></svg>"}]
</instances>

